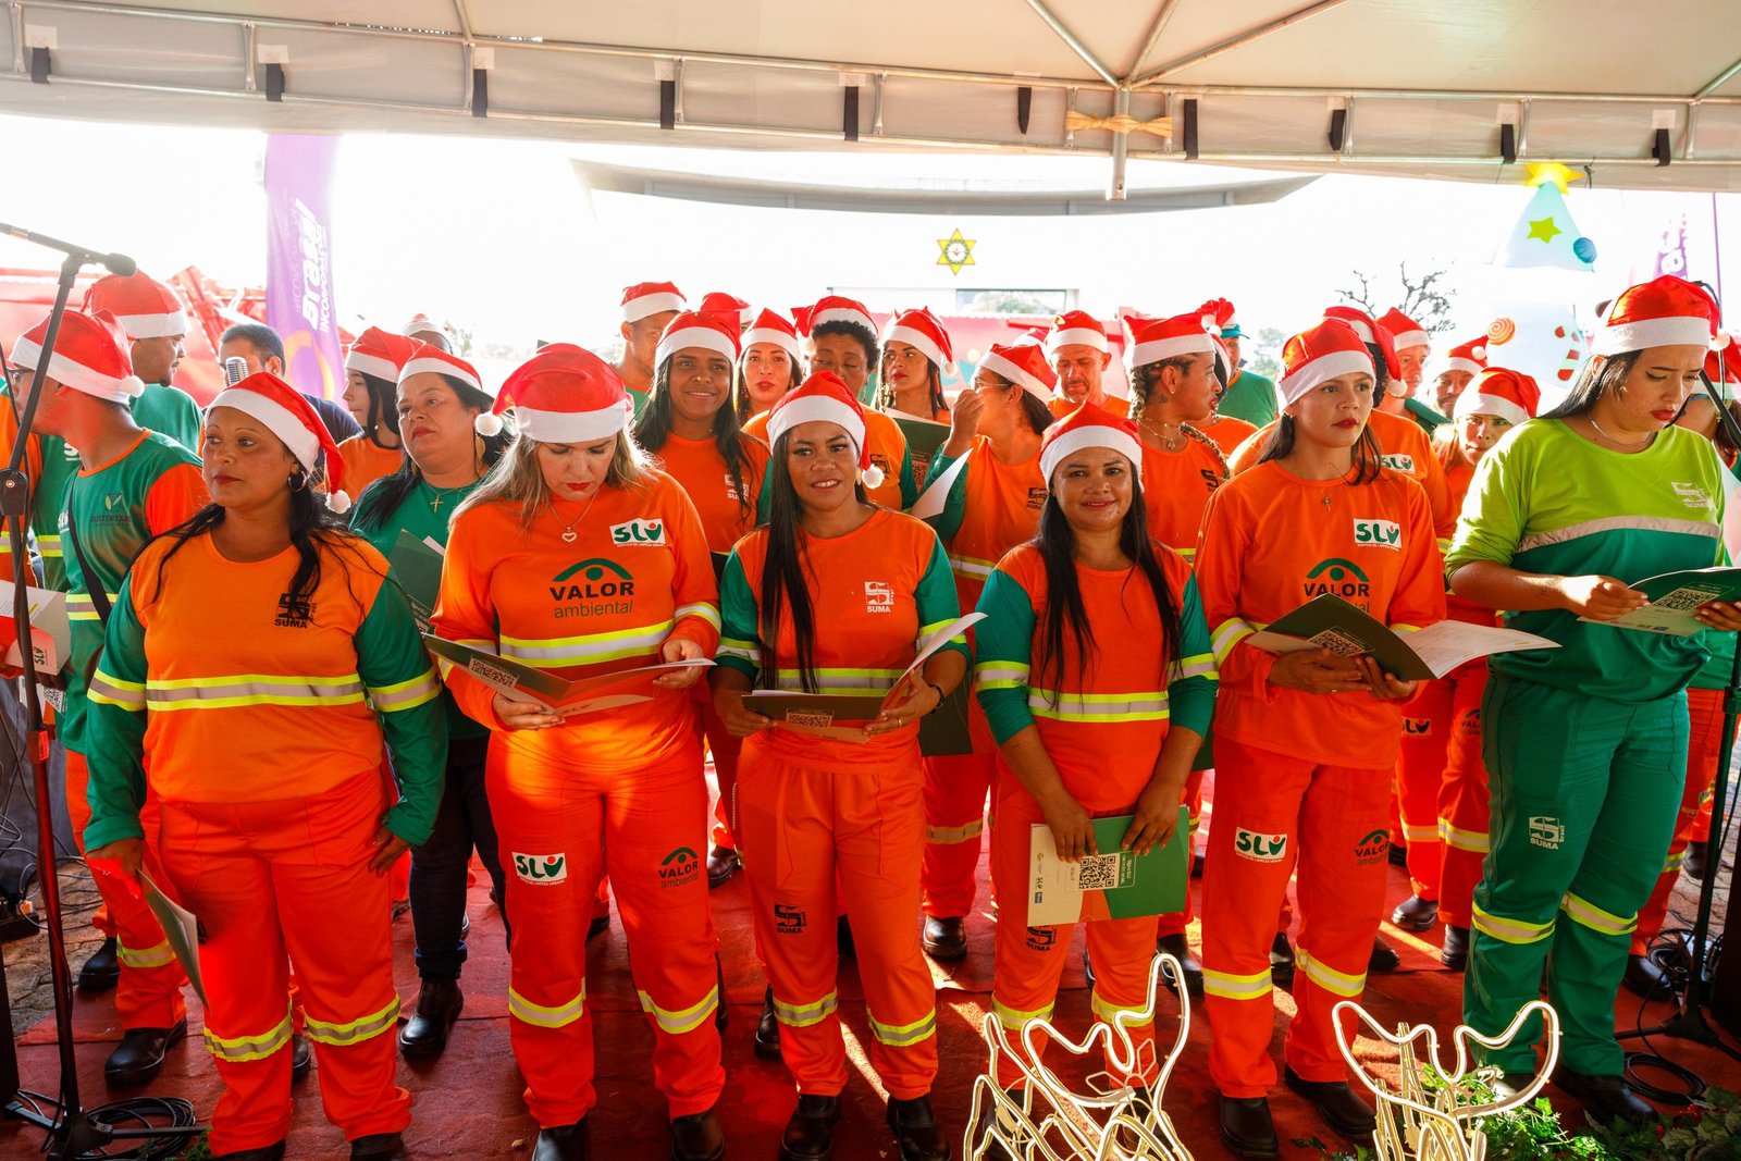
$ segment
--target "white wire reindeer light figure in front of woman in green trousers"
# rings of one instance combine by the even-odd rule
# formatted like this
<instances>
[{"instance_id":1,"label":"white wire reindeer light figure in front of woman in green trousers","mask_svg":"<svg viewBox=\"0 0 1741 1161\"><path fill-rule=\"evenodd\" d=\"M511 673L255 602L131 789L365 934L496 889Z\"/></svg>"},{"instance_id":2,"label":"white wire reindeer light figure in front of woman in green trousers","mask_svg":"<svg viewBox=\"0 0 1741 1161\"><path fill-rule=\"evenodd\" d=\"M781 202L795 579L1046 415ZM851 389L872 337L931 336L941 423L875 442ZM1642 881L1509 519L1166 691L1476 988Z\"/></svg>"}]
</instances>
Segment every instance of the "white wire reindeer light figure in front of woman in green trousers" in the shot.
<instances>
[{"instance_id":1,"label":"white wire reindeer light figure in front of woman in green trousers","mask_svg":"<svg viewBox=\"0 0 1741 1161\"><path fill-rule=\"evenodd\" d=\"M1471 1044L1504 1048L1537 1013L1546 1023L1548 1055L1534 1079L1502 1100L1471 1102L1468 1081L1492 1081L1499 1076L1499 1069L1494 1067L1471 1067ZM1372 1036L1396 1046L1400 1070L1396 1088L1354 1058L1353 1029L1344 1027L1342 1017L1354 1017ZM1560 1060L1560 1015L1541 999L1523 1004L1511 1025L1496 1037L1459 1025L1450 1034L1457 1050L1455 1069L1447 1069L1440 1058L1438 1030L1431 1025L1421 1023L1412 1029L1400 1025L1396 1032L1386 1032L1365 1008L1346 999L1335 1006L1334 1018L1342 1060L1379 1105L1379 1128L1372 1135L1379 1161L1483 1161L1487 1137L1480 1121L1534 1100ZM1438 1072L1443 1084L1429 1090L1421 1079L1422 1064Z\"/></svg>"}]
</instances>

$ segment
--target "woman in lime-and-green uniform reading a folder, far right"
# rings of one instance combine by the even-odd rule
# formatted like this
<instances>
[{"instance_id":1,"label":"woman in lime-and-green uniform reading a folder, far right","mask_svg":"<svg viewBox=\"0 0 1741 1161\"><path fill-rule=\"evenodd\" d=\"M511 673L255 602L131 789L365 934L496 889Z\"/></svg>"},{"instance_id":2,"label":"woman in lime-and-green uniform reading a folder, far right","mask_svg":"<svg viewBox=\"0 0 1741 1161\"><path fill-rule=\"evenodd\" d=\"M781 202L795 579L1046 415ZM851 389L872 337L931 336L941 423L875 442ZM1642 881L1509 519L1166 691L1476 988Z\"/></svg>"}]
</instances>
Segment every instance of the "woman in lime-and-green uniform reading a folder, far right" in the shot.
<instances>
[{"instance_id":1,"label":"woman in lime-and-green uniform reading a folder, far right","mask_svg":"<svg viewBox=\"0 0 1741 1161\"><path fill-rule=\"evenodd\" d=\"M1717 303L1691 282L1663 275L1616 298L1570 397L1482 458L1447 560L1459 597L1562 644L1490 660L1492 849L1464 1020L1501 1032L1546 963L1556 1083L1603 1121L1654 1116L1621 1076L1614 994L1675 830L1685 686L1706 648L1602 621L1645 604L1630 583L1722 560L1722 463L1673 426L1715 334ZM1697 621L1727 632L1741 611L1708 602ZM1532 1074L1536 1050L1520 1036L1489 1062Z\"/></svg>"}]
</instances>

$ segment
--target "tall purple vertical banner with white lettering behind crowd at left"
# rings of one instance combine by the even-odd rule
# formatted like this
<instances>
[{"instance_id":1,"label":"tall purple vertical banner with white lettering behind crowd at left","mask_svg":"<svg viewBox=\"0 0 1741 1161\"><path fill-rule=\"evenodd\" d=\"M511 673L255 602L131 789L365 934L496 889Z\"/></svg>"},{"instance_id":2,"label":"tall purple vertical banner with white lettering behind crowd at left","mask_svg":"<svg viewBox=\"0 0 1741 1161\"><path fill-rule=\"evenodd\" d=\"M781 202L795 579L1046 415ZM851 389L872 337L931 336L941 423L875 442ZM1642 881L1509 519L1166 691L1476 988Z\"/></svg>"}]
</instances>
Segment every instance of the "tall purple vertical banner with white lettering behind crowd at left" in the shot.
<instances>
[{"instance_id":1,"label":"tall purple vertical banner with white lettering behind crowd at left","mask_svg":"<svg viewBox=\"0 0 1741 1161\"><path fill-rule=\"evenodd\" d=\"M266 138L266 325L284 336L284 378L305 395L345 386L333 317L333 160L338 138Z\"/></svg>"}]
</instances>

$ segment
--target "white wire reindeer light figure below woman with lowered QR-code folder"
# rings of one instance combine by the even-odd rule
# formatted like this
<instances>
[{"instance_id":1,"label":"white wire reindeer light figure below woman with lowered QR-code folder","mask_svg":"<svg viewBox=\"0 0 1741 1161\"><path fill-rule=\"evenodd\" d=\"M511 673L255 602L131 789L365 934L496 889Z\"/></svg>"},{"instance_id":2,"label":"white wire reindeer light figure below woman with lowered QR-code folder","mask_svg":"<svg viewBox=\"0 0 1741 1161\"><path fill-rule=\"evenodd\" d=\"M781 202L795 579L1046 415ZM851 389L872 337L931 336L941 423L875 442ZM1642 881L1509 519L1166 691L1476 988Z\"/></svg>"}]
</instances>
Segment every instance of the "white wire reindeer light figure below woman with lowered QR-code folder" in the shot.
<instances>
[{"instance_id":1,"label":"white wire reindeer light figure below woman with lowered QR-code folder","mask_svg":"<svg viewBox=\"0 0 1741 1161\"><path fill-rule=\"evenodd\" d=\"M973 1081L973 1109L968 1117L965 1154L970 1161L1193 1161L1179 1140L1172 1117L1163 1111L1166 1081L1191 1034L1191 996L1179 992L1179 1030L1173 1046L1160 1060L1154 1088L1140 1093L1118 1084L1114 1076L1140 1076L1149 1062L1149 1044L1139 1046L1130 1029L1154 1020L1161 990L1161 968L1170 964L1175 980L1184 970L1173 956L1156 956L1149 966L1149 1003L1140 1011L1119 1011L1112 1022L1097 1020L1079 1043L1069 1039L1050 1020L1029 1020L1017 1041L994 1017L987 1015L982 1032L991 1048L991 1065ZM1088 1077L1095 1091L1071 1090L1041 1060L1041 1050L1059 1046L1072 1057L1102 1051L1112 1072ZM1027 1081L1020 1090L998 1084L998 1062L1008 1057ZM1104 1084L1097 1084L1102 1081ZM980 1135L984 1121L985 1131ZM978 1137L978 1140L975 1140Z\"/></svg>"}]
</instances>

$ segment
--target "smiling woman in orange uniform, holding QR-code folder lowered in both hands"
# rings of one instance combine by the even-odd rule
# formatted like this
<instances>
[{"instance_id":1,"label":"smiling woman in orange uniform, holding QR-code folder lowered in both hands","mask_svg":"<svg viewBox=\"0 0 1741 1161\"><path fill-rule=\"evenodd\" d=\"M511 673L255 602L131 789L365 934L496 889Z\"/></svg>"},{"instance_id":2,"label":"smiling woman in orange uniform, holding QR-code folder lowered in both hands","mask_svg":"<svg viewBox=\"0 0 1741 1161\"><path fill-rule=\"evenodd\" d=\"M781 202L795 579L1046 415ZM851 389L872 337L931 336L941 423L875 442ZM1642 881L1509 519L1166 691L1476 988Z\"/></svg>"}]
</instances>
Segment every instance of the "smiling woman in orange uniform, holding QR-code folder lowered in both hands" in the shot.
<instances>
[{"instance_id":1,"label":"smiling woman in orange uniform, holding QR-code folder lowered in both hands","mask_svg":"<svg viewBox=\"0 0 1741 1161\"><path fill-rule=\"evenodd\" d=\"M1052 1017L1071 935L1024 923L1031 827L1046 823L1071 862L1109 853L1093 818L1132 815L1119 841L1139 855L1168 842L1215 708L1191 566L1147 533L1149 454L1128 419L1093 404L1046 432L1039 534L998 562L978 602L973 693L998 738L992 877L1013 910L998 924L992 1015L1012 1039ZM1154 933L1154 916L1088 921L1095 1017L1147 1006ZM1130 1030L1151 1048L1137 1076L1114 1079L1153 1088L1154 1025ZM1020 1079L999 1060L999 1084Z\"/></svg>"}]
</instances>

